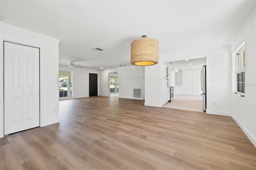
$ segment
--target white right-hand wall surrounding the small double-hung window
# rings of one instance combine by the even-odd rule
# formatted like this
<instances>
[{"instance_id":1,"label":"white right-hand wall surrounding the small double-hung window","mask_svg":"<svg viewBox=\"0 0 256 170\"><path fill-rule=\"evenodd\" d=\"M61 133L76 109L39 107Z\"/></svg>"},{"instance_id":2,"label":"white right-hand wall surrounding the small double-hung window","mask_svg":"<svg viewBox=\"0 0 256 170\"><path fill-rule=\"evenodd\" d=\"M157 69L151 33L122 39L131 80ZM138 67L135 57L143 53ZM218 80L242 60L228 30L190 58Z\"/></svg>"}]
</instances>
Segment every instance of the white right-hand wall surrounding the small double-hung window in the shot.
<instances>
[{"instance_id":1,"label":"white right-hand wall surrounding the small double-hung window","mask_svg":"<svg viewBox=\"0 0 256 170\"><path fill-rule=\"evenodd\" d=\"M256 146L256 16L255 9L232 43L232 118ZM236 92L236 49L245 45L245 96Z\"/></svg>"}]
</instances>

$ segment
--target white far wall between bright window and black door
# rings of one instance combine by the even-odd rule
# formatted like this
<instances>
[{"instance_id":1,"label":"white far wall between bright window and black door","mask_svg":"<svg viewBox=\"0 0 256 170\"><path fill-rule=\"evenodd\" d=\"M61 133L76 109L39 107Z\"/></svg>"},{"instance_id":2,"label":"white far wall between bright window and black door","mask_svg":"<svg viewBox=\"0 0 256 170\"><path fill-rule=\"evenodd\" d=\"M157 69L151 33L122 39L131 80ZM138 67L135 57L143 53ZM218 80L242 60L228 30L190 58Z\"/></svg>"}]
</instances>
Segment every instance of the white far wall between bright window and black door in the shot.
<instances>
[{"instance_id":1,"label":"white far wall between bright window and black door","mask_svg":"<svg viewBox=\"0 0 256 170\"><path fill-rule=\"evenodd\" d=\"M89 97L89 73L98 74L99 71L96 69L87 69L83 67L68 67L68 66L59 66L60 71L72 71L73 76L73 97L60 97L60 100L64 99L76 99L82 97ZM98 76L99 84L99 76ZM98 85L98 94L99 94L99 85Z\"/></svg>"}]
</instances>

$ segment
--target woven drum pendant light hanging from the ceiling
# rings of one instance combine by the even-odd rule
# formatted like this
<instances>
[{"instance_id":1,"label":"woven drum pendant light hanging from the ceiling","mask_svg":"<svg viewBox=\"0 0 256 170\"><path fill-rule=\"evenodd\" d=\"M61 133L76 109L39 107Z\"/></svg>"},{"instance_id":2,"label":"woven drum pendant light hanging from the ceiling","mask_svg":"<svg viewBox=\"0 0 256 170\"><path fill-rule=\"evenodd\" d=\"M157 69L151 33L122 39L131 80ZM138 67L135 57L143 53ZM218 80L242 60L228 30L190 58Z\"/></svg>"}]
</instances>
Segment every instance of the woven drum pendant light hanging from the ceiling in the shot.
<instances>
[{"instance_id":1,"label":"woven drum pendant light hanging from the ceiling","mask_svg":"<svg viewBox=\"0 0 256 170\"><path fill-rule=\"evenodd\" d=\"M159 42L154 38L134 40L131 43L131 64L132 65L154 65L158 63Z\"/></svg>"}]
</instances>

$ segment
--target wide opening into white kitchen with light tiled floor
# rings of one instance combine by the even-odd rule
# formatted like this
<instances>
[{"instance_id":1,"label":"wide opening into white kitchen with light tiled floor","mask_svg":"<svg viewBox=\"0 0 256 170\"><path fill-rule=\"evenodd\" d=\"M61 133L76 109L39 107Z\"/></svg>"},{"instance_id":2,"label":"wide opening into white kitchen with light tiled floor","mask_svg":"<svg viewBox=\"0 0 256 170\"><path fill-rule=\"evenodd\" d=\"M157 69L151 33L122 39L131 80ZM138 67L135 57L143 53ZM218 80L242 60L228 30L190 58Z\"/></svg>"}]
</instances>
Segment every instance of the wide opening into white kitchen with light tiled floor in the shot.
<instances>
[{"instance_id":1,"label":"wide opening into white kitchen with light tiled floor","mask_svg":"<svg viewBox=\"0 0 256 170\"><path fill-rule=\"evenodd\" d=\"M175 73L170 81L174 85L174 101L163 107L203 112L201 71L206 65L206 57L166 63Z\"/></svg>"}]
</instances>

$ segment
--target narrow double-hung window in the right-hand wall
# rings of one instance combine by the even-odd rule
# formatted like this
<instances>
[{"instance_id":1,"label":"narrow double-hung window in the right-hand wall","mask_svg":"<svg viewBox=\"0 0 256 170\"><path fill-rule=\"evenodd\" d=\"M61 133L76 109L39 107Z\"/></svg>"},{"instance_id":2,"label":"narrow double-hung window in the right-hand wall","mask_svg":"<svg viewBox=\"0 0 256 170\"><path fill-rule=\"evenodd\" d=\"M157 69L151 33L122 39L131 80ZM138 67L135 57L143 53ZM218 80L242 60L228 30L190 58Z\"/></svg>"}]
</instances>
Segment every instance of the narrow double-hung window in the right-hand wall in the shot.
<instances>
[{"instance_id":1,"label":"narrow double-hung window in the right-hand wall","mask_svg":"<svg viewBox=\"0 0 256 170\"><path fill-rule=\"evenodd\" d=\"M237 91L244 93L245 68L244 68L244 48L236 54Z\"/></svg>"}]
</instances>

